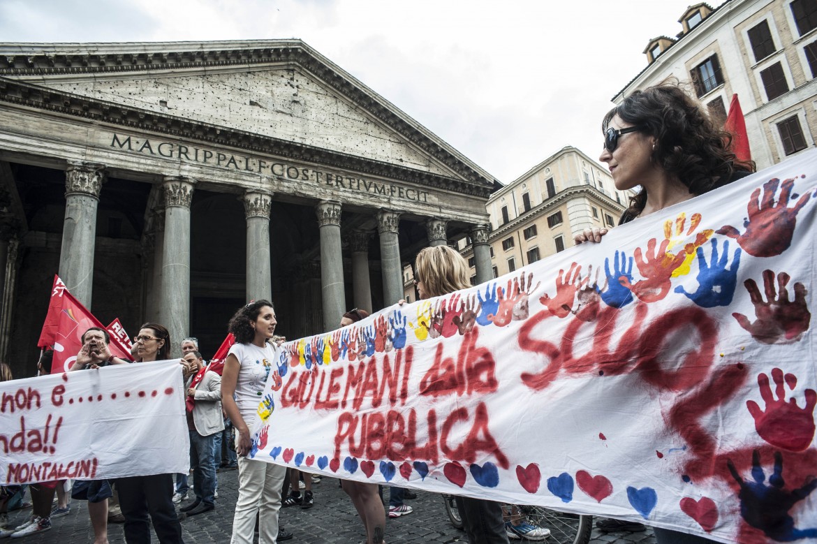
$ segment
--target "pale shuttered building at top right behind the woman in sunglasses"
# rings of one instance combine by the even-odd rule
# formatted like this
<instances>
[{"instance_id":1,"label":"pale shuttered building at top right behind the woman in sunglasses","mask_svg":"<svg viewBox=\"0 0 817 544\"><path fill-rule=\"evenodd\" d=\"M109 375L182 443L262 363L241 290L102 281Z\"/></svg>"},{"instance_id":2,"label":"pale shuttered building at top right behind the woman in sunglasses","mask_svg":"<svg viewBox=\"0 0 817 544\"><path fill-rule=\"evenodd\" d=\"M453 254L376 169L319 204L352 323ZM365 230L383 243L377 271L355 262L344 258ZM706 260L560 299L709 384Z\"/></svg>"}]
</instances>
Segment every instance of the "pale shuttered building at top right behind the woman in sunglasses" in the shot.
<instances>
[{"instance_id":1,"label":"pale shuttered building at top right behind the woman in sunglasses","mask_svg":"<svg viewBox=\"0 0 817 544\"><path fill-rule=\"evenodd\" d=\"M713 116L725 118L733 94L746 118L758 168L814 147L817 137L817 0L727 0L681 14L675 38L645 47L648 65L613 101L677 78Z\"/></svg>"}]
</instances>

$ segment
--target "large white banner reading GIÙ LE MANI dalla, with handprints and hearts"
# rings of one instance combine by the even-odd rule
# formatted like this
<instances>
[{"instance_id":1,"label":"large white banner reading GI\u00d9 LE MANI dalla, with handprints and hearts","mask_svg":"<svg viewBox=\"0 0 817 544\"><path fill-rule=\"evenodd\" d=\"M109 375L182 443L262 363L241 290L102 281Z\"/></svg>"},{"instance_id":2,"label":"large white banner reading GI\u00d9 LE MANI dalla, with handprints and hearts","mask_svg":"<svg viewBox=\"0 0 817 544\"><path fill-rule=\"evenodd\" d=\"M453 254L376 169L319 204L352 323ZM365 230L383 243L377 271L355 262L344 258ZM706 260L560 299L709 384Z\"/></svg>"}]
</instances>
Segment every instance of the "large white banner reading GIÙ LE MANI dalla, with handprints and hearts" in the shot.
<instances>
[{"instance_id":1,"label":"large white banner reading GI\u00d9 LE MANI dalla, with handprints and hearts","mask_svg":"<svg viewBox=\"0 0 817 544\"><path fill-rule=\"evenodd\" d=\"M810 152L288 342L251 455L721 542L814 539L815 217Z\"/></svg>"}]
</instances>

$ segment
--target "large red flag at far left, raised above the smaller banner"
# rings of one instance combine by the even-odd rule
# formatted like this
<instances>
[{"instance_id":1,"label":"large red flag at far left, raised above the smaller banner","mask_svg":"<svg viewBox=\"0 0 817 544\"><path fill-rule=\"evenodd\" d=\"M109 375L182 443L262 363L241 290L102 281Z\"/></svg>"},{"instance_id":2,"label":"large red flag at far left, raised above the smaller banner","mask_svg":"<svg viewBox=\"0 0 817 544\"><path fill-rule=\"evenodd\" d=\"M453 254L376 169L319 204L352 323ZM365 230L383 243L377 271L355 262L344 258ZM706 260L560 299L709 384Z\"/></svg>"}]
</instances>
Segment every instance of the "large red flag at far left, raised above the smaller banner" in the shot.
<instances>
[{"instance_id":1,"label":"large red flag at far left, raised above the smaller banner","mask_svg":"<svg viewBox=\"0 0 817 544\"><path fill-rule=\"evenodd\" d=\"M60 277L55 275L46 321L42 325L40 339L37 342L40 349L49 346L54 348L52 374L65 372L74 364L79 350L83 347L81 341L83 332L91 327L105 329L105 326L65 288L65 283ZM111 342L109 350L120 359L132 360L130 351L123 350L119 342Z\"/></svg>"}]
</instances>

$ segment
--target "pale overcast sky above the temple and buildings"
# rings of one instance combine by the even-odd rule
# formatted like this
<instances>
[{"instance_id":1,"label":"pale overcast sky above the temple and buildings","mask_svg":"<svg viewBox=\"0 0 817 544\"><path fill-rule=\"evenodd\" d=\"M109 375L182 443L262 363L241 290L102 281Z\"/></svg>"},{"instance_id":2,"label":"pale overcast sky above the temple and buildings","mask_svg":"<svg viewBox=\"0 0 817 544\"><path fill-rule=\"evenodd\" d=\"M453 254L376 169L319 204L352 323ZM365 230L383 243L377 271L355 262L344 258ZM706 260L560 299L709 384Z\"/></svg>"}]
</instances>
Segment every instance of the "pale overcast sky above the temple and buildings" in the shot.
<instances>
[{"instance_id":1,"label":"pale overcast sky above the temple and buildings","mask_svg":"<svg viewBox=\"0 0 817 544\"><path fill-rule=\"evenodd\" d=\"M597 159L610 100L694 3L0 0L0 39L299 38L507 184L566 145Z\"/></svg>"}]
</instances>

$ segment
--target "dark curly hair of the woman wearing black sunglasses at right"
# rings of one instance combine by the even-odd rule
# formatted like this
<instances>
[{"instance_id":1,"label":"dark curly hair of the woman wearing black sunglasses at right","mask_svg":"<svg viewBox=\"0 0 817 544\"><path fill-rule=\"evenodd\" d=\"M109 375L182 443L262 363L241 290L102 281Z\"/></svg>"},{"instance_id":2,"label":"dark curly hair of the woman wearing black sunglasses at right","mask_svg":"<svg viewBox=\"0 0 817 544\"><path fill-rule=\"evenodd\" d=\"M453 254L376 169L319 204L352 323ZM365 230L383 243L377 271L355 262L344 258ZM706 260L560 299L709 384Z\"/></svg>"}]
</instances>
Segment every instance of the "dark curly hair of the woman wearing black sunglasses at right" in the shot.
<instances>
[{"instance_id":1,"label":"dark curly hair of the woman wearing black sunglasses at right","mask_svg":"<svg viewBox=\"0 0 817 544\"><path fill-rule=\"evenodd\" d=\"M650 160L674 174L690 193L699 195L729 183L736 170L754 172L754 163L740 163L730 150L732 135L717 127L700 103L677 81L634 91L601 122L605 134L618 115L656 142ZM637 216L647 203L647 191L630 199L625 214Z\"/></svg>"}]
</instances>

